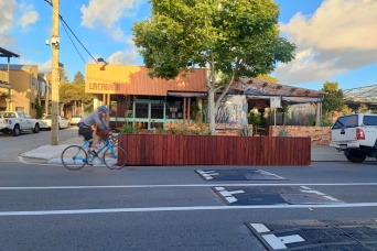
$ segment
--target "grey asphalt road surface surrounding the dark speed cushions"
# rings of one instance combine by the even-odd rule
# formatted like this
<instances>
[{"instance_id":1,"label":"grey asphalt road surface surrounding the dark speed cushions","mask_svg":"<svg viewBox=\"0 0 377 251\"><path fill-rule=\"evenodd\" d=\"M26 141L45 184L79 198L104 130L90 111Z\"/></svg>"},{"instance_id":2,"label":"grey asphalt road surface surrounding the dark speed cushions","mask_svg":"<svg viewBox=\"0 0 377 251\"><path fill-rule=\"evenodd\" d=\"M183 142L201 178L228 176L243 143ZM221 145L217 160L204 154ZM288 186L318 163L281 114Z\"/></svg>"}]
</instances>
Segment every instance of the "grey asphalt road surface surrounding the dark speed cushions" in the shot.
<instances>
[{"instance_id":1,"label":"grey asphalt road surface surrounding the dark speed cushions","mask_svg":"<svg viewBox=\"0 0 377 251\"><path fill-rule=\"evenodd\" d=\"M36 139L49 143L49 135L1 135L0 143L11 140L14 155ZM205 181L195 172L203 168L238 167L85 166L73 172L1 159L0 250L265 250L246 222L377 218L375 164L250 166L286 181ZM230 206L213 189L276 185L311 187L343 203Z\"/></svg>"}]
</instances>

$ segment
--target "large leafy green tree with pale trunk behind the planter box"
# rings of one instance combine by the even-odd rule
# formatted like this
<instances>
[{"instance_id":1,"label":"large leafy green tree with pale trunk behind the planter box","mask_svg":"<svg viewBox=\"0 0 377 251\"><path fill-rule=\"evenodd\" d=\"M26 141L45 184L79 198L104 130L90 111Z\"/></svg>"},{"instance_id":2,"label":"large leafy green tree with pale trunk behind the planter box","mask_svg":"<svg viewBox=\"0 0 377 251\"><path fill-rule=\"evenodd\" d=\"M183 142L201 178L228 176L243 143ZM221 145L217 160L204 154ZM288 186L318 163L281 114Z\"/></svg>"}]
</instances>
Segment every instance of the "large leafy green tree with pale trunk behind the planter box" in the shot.
<instances>
[{"instance_id":1,"label":"large leafy green tree with pale trunk behind the planter box","mask_svg":"<svg viewBox=\"0 0 377 251\"><path fill-rule=\"evenodd\" d=\"M149 76L173 79L193 67L207 67L212 133L220 101L238 77L268 74L278 62L294 58L295 45L279 36L279 6L273 0L150 2L152 15L132 28ZM218 80L219 74L227 76L226 81Z\"/></svg>"}]
</instances>

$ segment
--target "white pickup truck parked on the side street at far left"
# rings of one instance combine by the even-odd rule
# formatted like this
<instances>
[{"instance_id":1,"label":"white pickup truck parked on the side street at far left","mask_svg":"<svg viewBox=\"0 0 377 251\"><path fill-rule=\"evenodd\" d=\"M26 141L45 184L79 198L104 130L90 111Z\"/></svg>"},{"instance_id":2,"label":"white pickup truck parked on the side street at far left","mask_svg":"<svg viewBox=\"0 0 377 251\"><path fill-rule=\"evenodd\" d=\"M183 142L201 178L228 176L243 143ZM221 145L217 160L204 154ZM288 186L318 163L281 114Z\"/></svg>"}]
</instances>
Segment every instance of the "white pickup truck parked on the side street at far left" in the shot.
<instances>
[{"instance_id":1,"label":"white pickup truck parked on the side street at far left","mask_svg":"<svg viewBox=\"0 0 377 251\"><path fill-rule=\"evenodd\" d=\"M18 137L23 131L40 132L40 120L23 111L0 111L0 132Z\"/></svg>"}]
</instances>

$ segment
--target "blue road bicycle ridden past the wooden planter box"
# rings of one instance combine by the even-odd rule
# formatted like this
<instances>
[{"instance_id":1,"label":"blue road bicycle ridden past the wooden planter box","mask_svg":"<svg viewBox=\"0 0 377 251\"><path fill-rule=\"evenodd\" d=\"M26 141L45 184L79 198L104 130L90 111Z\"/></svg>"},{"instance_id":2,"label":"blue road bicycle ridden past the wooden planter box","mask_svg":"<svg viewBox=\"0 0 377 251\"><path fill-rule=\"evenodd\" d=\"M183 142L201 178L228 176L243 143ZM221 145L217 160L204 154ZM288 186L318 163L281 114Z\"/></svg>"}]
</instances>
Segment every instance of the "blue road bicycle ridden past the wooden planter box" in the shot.
<instances>
[{"instance_id":1,"label":"blue road bicycle ridden past the wooden planter box","mask_svg":"<svg viewBox=\"0 0 377 251\"><path fill-rule=\"evenodd\" d=\"M82 145L67 146L61 155L63 165L72 171L80 170L84 165L93 165L93 160L95 157L100 159L99 154L106 149L103 155L105 165L110 170L122 168L127 163L126 150L118 145L112 145L109 135L100 140L105 141L105 143L96 151L97 156L94 156L89 151L89 144L93 140L84 140Z\"/></svg>"}]
</instances>

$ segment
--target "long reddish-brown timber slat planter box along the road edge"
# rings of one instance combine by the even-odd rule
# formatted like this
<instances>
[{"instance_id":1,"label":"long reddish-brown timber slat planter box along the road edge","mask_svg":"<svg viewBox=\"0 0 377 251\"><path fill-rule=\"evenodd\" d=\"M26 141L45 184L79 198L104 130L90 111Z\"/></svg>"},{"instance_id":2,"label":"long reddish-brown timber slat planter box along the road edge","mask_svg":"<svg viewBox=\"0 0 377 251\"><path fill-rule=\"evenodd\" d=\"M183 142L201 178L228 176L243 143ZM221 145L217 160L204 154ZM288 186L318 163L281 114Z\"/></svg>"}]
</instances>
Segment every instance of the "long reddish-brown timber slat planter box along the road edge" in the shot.
<instances>
[{"instance_id":1,"label":"long reddish-brown timber slat planter box along the road edge","mask_svg":"<svg viewBox=\"0 0 377 251\"><path fill-rule=\"evenodd\" d=\"M310 165L310 138L119 134L127 165ZM121 156L120 156L121 157Z\"/></svg>"}]
</instances>

